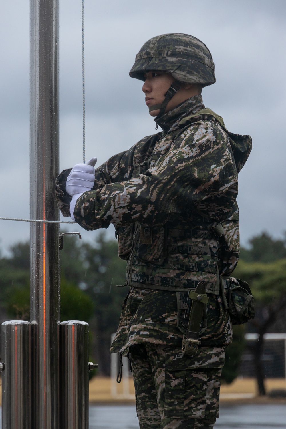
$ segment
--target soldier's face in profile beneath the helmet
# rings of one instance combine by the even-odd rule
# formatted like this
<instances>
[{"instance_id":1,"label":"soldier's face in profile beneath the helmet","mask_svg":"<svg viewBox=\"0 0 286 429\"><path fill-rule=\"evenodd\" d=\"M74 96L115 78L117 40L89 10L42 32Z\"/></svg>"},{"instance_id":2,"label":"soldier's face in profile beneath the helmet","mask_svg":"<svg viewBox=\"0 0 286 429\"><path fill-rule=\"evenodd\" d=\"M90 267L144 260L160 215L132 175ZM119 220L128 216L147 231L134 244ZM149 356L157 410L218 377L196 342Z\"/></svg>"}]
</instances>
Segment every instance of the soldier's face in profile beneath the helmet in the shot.
<instances>
[{"instance_id":1,"label":"soldier's face in profile beneath the helmet","mask_svg":"<svg viewBox=\"0 0 286 429\"><path fill-rule=\"evenodd\" d=\"M155 104L163 103L165 99L165 94L168 91L170 85L172 82L174 82L173 76L171 76L169 73L163 73L163 72L148 72L145 73L145 82L142 86L142 91L145 94L145 102L148 107L154 106ZM174 96L175 97L175 96ZM172 100L169 101L169 103ZM169 103L167 105L167 108L169 107ZM175 107L175 106L174 106ZM168 110L166 108L166 112ZM151 116L157 116L159 114L160 109L153 110L149 112Z\"/></svg>"}]
</instances>

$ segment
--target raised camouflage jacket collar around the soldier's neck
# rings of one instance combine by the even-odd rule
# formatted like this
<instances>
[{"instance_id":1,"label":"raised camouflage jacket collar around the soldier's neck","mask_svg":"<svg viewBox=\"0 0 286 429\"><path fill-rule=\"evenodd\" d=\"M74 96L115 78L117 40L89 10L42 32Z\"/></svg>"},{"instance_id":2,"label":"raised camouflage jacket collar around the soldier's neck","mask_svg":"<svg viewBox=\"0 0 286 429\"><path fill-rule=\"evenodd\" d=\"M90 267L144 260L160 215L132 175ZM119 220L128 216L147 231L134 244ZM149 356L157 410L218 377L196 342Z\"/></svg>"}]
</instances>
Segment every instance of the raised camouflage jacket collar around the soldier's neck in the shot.
<instances>
[{"instance_id":1,"label":"raised camouflage jacket collar around the soldier's neck","mask_svg":"<svg viewBox=\"0 0 286 429\"><path fill-rule=\"evenodd\" d=\"M155 118L155 121L163 129L164 134L169 133L178 128L180 121L184 117L194 114L201 109L205 109L205 106L202 103L202 96L194 95L178 104L174 109L165 113L161 118Z\"/></svg>"}]
</instances>

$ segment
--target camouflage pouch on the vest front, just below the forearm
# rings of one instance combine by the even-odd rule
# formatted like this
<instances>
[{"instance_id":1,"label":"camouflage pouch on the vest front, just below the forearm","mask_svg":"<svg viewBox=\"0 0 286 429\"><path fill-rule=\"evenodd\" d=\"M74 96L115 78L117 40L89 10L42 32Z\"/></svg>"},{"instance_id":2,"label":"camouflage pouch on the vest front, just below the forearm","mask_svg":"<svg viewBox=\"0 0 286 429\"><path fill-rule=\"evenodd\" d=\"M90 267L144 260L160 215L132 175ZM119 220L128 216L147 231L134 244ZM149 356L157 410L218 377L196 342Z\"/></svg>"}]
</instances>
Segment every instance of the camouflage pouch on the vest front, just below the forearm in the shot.
<instances>
[{"instance_id":1,"label":"camouflage pouch on the vest front, just below the forearm","mask_svg":"<svg viewBox=\"0 0 286 429\"><path fill-rule=\"evenodd\" d=\"M140 224L137 256L142 261L161 265L167 255L167 224L148 227Z\"/></svg>"}]
</instances>

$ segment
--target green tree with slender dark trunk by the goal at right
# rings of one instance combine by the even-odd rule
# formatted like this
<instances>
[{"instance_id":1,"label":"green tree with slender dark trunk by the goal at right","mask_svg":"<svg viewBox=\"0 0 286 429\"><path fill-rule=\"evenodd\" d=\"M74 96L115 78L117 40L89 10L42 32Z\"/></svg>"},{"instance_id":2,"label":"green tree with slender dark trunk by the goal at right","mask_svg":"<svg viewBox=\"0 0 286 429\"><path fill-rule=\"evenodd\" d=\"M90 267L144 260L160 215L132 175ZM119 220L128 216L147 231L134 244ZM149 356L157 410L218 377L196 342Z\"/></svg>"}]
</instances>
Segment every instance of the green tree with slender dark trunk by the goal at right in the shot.
<instances>
[{"instance_id":1,"label":"green tree with slender dark trunk by the goal at right","mask_svg":"<svg viewBox=\"0 0 286 429\"><path fill-rule=\"evenodd\" d=\"M286 259L271 263L239 261L233 275L247 281L255 299L256 317L249 323L249 327L257 332L258 341L251 348L258 390L260 395L265 395L261 360L263 335L286 309Z\"/></svg>"}]
</instances>

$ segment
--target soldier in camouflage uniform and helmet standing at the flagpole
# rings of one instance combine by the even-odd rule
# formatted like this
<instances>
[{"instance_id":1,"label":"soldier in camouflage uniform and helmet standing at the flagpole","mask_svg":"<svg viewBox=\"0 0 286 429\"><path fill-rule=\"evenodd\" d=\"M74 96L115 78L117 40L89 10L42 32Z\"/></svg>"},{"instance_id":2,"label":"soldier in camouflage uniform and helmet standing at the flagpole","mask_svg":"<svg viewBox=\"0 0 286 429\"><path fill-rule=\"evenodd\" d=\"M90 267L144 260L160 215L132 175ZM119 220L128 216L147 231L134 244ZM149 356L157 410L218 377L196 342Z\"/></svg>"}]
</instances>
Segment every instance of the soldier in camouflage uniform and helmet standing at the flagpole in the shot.
<instances>
[{"instance_id":1,"label":"soldier in camouflage uniform and helmet standing at the flagpole","mask_svg":"<svg viewBox=\"0 0 286 429\"><path fill-rule=\"evenodd\" d=\"M129 75L144 81L163 132L95 173L83 164L64 170L57 199L86 230L116 228L130 290L111 353L130 356L140 428L213 428L232 341L219 277L238 261L238 172L251 138L230 133L202 104L215 75L199 39L153 37Z\"/></svg>"}]
</instances>

